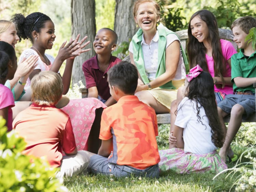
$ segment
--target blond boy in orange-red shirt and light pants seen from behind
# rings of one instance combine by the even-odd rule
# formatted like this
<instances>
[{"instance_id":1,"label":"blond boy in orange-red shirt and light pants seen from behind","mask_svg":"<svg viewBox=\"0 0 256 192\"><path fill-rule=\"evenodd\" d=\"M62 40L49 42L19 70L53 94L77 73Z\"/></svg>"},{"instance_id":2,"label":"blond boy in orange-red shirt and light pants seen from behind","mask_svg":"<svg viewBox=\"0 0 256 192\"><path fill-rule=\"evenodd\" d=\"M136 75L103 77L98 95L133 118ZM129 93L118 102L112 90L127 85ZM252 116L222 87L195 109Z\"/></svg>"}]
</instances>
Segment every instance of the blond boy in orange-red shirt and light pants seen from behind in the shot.
<instances>
[{"instance_id":1,"label":"blond boy in orange-red shirt and light pants seen from behind","mask_svg":"<svg viewBox=\"0 0 256 192\"><path fill-rule=\"evenodd\" d=\"M46 156L51 166L60 166L61 176L79 174L87 168L89 155L77 151L69 115L55 107L63 92L60 75L40 72L31 81L31 92L32 105L13 121L13 128L27 143L24 154Z\"/></svg>"}]
</instances>

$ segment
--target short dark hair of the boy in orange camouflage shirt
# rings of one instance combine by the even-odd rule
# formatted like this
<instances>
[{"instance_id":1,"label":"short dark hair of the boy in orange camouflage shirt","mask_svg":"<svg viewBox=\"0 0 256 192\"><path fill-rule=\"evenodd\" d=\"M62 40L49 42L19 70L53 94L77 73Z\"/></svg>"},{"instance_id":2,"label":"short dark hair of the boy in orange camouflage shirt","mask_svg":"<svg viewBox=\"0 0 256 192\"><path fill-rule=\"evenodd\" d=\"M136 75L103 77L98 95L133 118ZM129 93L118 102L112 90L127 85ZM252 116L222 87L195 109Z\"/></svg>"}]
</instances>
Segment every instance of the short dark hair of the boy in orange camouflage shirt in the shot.
<instances>
[{"instance_id":1,"label":"short dark hair of the boy in orange camouflage shirt","mask_svg":"<svg viewBox=\"0 0 256 192\"><path fill-rule=\"evenodd\" d=\"M121 61L108 71L108 82L128 95L134 95L138 85L137 68L127 61Z\"/></svg>"}]
</instances>

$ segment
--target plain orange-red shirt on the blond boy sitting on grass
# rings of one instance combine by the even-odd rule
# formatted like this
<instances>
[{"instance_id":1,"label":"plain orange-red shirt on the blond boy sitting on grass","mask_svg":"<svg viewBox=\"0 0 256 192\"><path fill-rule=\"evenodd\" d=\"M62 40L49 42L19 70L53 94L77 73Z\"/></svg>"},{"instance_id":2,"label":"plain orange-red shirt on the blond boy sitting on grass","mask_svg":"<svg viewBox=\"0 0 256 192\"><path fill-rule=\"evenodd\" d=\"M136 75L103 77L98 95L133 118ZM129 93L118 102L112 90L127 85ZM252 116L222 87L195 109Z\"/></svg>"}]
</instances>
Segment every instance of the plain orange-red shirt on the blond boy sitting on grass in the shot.
<instances>
[{"instance_id":1,"label":"plain orange-red shirt on the blond boy sitting on grass","mask_svg":"<svg viewBox=\"0 0 256 192\"><path fill-rule=\"evenodd\" d=\"M62 149L65 153L71 153L76 148L69 115L55 106L33 103L17 115L13 128L27 143L24 154L46 156L53 167L60 166Z\"/></svg>"}]
</instances>

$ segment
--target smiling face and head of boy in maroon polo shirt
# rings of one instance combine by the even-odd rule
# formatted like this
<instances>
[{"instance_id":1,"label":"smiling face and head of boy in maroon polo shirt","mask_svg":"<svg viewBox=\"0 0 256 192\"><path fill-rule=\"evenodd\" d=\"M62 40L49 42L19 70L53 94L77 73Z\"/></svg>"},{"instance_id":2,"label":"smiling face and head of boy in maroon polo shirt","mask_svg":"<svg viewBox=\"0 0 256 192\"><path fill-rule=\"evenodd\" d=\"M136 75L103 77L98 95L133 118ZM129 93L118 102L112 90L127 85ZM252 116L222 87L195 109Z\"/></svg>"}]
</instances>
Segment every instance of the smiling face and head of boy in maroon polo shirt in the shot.
<instances>
[{"instance_id":1,"label":"smiling face and head of boy in maroon polo shirt","mask_svg":"<svg viewBox=\"0 0 256 192\"><path fill-rule=\"evenodd\" d=\"M100 29L93 42L94 50L97 54L110 54L116 48L113 32Z\"/></svg>"}]
</instances>

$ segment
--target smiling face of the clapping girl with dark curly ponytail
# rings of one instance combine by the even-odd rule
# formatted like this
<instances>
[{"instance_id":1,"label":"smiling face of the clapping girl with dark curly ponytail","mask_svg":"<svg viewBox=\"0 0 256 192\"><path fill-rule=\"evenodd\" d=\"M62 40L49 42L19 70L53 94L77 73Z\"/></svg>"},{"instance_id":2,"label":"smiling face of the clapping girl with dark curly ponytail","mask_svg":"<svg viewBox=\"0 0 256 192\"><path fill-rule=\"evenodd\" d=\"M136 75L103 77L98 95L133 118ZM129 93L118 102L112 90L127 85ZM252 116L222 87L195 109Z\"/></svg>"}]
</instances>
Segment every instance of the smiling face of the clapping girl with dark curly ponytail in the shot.
<instances>
[{"instance_id":1,"label":"smiling face of the clapping girl with dark curly ponytail","mask_svg":"<svg viewBox=\"0 0 256 192\"><path fill-rule=\"evenodd\" d=\"M54 23L51 20L47 20L44 23L44 27L40 29L40 32L37 33L37 41L33 41L34 43L38 43L42 48L44 49L52 49L53 48L53 42L56 38L56 35L54 34L55 28Z\"/></svg>"}]
</instances>

